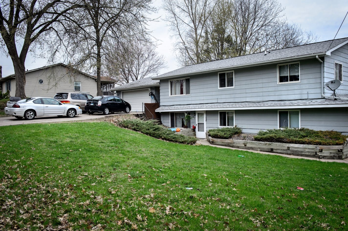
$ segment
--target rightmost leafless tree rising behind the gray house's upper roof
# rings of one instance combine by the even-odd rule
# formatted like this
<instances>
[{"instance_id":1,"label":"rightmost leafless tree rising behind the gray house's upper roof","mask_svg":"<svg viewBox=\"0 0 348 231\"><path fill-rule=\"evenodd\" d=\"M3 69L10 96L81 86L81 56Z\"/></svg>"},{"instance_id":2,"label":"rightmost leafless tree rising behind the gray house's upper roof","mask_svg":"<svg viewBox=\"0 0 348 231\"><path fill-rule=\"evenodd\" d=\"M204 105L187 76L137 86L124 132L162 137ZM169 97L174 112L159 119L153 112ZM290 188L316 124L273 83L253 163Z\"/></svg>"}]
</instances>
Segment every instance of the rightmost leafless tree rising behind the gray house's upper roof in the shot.
<instances>
[{"instance_id":1,"label":"rightmost leafless tree rising behind the gray house's upper roof","mask_svg":"<svg viewBox=\"0 0 348 231\"><path fill-rule=\"evenodd\" d=\"M276 0L235 0L232 12L236 55L252 54L316 40L284 19L282 6Z\"/></svg>"}]
</instances>

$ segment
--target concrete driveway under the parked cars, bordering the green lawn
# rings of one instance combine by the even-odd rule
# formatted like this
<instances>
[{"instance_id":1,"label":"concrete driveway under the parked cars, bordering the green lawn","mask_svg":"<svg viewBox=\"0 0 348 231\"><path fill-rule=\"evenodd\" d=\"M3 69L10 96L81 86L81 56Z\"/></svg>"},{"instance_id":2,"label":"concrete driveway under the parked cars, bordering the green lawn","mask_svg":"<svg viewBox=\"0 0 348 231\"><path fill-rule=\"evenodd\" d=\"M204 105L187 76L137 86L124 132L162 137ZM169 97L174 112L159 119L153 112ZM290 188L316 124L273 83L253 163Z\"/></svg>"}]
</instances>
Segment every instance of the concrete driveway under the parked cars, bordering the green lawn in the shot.
<instances>
[{"instance_id":1,"label":"concrete driveway under the parked cars, bordering the green lawn","mask_svg":"<svg viewBox=\"0 0 348 231\"><path fill-rule=\"evenodd\" d=\"M115 115L115 114L110 114L110 115ZM27 123L53 123L53 122L62 122L62 121L77 121L77 120L99 119L99 118L110 116L110 115L103 115L102 113L97 113L97 114L90 115L90 114L86 113L86 114L77 115L74 118L68 118L66 116L57 117L57 116L53 115L53 116L35 117L33 120L26 120L24 118L17 119L17 118L15 118L13 116L11 116L11 117L0 117L0 126L19 125L19 124L27 124Z\"/></svg>"}]
</instances>

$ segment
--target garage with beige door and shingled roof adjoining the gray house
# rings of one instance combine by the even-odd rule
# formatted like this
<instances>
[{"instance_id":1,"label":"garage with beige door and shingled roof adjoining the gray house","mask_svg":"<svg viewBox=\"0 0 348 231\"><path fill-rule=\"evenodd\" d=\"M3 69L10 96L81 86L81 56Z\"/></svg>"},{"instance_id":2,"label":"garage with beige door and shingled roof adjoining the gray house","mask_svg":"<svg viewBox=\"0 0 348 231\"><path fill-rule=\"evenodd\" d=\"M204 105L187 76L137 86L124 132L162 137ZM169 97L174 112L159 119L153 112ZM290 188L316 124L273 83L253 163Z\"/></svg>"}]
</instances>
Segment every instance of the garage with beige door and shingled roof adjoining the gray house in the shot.
<instances>
[{"instance_id":1,"label":"garage with beige door and shingled roof adjoining the gray house","mask_svg":"<svg viewBox=\"0 0 348 231\"><path fill-rule=\"evenodd\" d=\"M142 113L143 103L159 103L159 80L138 79L110 89L110 91L116 91L119 97L127 101L132 106L131 112Z\"/></svg>"}]
</instances>

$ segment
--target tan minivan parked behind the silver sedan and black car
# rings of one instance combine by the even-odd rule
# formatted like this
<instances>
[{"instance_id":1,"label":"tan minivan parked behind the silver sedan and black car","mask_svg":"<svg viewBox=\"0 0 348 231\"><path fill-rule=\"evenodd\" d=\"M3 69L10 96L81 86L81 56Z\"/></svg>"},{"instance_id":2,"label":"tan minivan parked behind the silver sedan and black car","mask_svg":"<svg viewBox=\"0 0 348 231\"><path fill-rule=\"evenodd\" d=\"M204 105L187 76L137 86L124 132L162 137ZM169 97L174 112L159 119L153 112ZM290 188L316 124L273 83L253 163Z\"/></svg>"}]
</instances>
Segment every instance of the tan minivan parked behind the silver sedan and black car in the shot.
<instances>
[{"instance_id":1,"label":"tan minivan parked behind the silver sedan and black car","mask_svg":"<svg viewBox=\"0 0 348 231\"><path fill-rule=\"evenodd\" d=\"M53 99L61 103L70 103L79 106L82 112L85 112L86 101L92 99L93 96L84 92L63 92L57 93Z\"/></svg>"}]
</instances>

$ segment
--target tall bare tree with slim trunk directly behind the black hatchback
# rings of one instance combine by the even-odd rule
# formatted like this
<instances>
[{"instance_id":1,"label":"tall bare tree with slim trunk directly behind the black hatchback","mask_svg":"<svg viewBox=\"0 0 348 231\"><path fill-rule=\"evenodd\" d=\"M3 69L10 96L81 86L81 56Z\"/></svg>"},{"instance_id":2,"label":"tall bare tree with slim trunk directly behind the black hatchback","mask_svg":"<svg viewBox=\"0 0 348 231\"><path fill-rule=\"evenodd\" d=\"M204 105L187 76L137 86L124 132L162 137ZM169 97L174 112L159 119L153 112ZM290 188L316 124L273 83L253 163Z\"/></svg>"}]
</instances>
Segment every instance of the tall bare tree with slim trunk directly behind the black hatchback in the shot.
<instances>
[{"instance_id":1,"label":"tall bare tree with slim trunk directly behind the black hatchback","mask_svg":"<svg viewBox=\"0 0 348 231\"><path fill-rule=\"evenodd\" d=\"M152 0L82 1L69 23L62 24L66 37L60 49L75 68L96 74L97 95L101 95L100 77L110 59L110 44L147 34L145 25L150 18L146 15L155 9L149 6Z\"/></svg>"}]
</instances>

